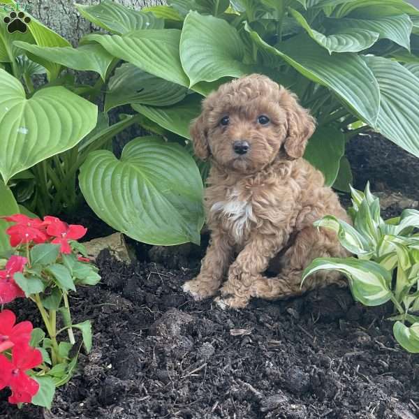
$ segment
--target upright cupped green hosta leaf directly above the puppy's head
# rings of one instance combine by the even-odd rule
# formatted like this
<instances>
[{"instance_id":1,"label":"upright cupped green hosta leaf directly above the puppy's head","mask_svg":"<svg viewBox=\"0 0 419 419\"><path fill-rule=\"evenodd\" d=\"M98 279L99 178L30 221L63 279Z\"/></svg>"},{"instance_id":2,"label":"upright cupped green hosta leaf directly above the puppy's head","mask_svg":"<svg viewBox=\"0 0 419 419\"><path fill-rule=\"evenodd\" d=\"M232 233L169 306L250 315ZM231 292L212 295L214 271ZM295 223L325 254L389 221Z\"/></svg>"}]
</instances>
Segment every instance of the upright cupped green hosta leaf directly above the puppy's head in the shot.
<instances>
[{"instance_id":1,"label":"upright cupped green hosta leaf directly above the puppy's head","mask_svg":"<svg viewBox=\"0 0 419 419\"><path fill-rule=\"evenodd\" d=\"M190 12L180 37L180 59L190 86L201 81L240 77L251 71L243 63L245 47L234 27L223 19Z\"/></svg>"}]
</instances>

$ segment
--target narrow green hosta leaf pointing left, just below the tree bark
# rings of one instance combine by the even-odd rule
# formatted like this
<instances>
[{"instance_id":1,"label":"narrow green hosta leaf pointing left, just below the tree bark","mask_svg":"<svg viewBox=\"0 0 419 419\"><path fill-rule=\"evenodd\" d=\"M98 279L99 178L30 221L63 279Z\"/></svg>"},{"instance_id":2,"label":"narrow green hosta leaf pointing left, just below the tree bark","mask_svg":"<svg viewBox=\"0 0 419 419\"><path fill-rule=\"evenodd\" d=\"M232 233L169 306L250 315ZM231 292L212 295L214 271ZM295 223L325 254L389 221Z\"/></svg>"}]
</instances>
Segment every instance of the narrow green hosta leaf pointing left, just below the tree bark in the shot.
<instances>
[{"instance_id":1,"label":"narrow green hosta leaf pointing left, just below the tree bark","mask_svg":"<svg viewBox=\"0 0 419 419\"><path fill-rule=\"evenodd\" d=\"M37 57L41 58L41 64L51 61L74 70L96 71L103 80L105 80L106 71L114 58L98 44L81 45L77 49L73 47L39 47L18 41L15 45L30 52L35 61Z\"/></svg>"}]
</instances>

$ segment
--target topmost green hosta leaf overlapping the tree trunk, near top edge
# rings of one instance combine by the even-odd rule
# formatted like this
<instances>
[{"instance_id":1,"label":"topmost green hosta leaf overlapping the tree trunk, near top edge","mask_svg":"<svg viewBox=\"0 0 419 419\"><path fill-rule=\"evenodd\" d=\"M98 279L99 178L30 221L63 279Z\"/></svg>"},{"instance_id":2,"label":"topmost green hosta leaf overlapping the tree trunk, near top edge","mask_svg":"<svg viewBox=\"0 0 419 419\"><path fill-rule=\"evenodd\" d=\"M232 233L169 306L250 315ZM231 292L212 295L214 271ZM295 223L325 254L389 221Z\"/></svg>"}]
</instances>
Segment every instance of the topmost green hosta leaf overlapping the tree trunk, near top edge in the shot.
<instances>
[{"instance_id":1,"label":"topmost green hosta leaf overlapping the tree trunk, near top edge","mask_svg":"<svg viewBox=\"0 0 419 419\"><path fill-rule=\"evenodd\" d=\"M80 14L112 34L126 34L138 29L163 29L164 20L152 13L142 13L114 1L102 1L94 6L75 4Z\"/></svg>"}]
</instances>

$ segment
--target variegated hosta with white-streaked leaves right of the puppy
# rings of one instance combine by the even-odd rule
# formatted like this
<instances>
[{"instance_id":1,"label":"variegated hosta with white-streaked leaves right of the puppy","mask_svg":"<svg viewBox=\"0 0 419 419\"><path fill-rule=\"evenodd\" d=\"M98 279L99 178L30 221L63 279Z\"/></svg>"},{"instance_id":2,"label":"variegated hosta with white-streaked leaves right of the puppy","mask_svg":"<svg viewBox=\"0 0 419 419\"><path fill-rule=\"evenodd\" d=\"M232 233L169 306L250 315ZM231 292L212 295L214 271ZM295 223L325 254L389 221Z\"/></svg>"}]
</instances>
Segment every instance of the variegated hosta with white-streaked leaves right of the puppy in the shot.
<instances>
[{"instance_id":1,"label":"variegated hosta with white-streaked leaves right of the puppy","mask_svg":"<svg viewBox=\"0 0 419 419\"><path fill-rule=\"evenodd\" d=\"M367 306L391 301L397 314L395 338L406 351L419 353L419 212L404 210L384 221L380 204L369 191L351 189L353 226L334 216L314 224L335 230L341 245L356 257L317 258L302 280L318 270L337 270L347 278L355 300Z\"/></svg>"}]
</instances>

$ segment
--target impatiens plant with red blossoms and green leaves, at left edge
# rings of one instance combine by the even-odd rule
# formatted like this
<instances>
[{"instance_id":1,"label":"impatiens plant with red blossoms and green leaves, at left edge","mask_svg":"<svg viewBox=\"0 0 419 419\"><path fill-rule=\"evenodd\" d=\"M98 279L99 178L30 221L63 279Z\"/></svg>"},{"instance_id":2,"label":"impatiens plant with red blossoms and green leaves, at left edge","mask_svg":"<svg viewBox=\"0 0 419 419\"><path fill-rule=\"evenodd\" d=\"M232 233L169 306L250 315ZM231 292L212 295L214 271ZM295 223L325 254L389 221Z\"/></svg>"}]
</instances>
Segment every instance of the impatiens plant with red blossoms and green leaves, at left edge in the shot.
<instances>
[{"instance_id":1,"label":"impatiens plant with red blossoms and green leaves, at left edge","mask_svg":"<svg viewBox=\"0 0 419 419\"><path fill-rule=\"evenodd\" d=\"M73 375L81 345L91 348L91 323L73 324L68 296L101 277L77 242L83 226L54 216L5 218L13 224L6 230L13 250L0 270L0 389L10 388L10 403L49 408L55 388ZM17 298L34 302L43 328L15 324L15 314L3 307Z\"/></svg>"}]
</instances>

